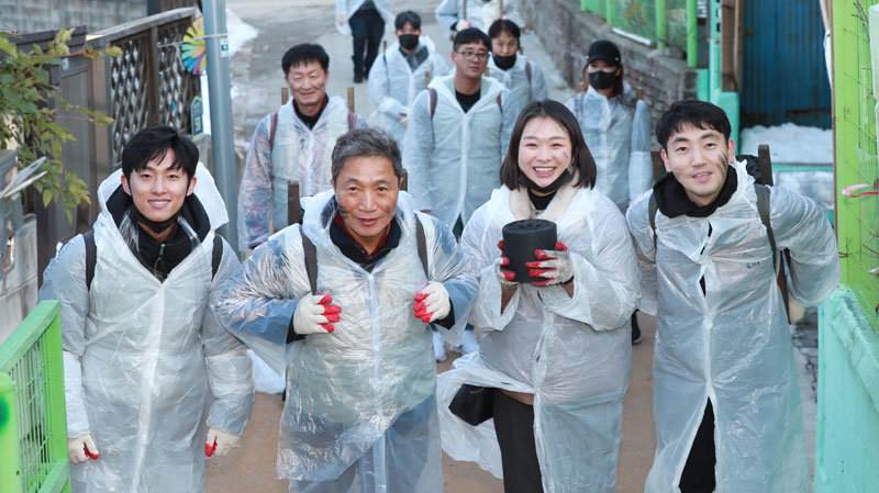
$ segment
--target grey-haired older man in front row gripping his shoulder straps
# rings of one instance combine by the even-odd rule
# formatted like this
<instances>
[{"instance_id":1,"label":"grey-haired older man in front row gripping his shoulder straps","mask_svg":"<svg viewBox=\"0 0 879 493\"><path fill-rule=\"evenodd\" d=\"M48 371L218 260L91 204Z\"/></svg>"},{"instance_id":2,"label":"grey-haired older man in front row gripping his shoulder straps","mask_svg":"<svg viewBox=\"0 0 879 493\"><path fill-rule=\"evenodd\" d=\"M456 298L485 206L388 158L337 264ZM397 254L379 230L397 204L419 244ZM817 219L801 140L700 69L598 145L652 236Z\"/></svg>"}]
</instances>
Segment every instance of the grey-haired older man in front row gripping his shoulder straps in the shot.
<instances>
[{"instance_id":1,"label":"grey-haired older man in front row gripping his shoulder straps","mask_svg":"<svg viewBox=\"0 0 879 493\"><path fill-rule=\"evenodd\" d=\"M303 200L214 310L287 376L278 475L290 492L442 492L427 323L459 337L477 272L449 228L400 191L397 142L354 130L333 190Z\"/></svg>"}]
</instances>

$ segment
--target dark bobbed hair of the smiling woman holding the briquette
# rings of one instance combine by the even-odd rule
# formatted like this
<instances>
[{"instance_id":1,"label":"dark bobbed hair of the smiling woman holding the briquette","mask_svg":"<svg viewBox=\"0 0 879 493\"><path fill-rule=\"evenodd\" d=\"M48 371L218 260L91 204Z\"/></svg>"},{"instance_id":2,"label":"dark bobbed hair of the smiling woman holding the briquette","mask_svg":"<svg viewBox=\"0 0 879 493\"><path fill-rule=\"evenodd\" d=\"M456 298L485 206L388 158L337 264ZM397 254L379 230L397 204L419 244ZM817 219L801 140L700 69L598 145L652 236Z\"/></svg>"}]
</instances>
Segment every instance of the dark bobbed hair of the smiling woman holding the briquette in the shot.
<instances>
[{"instance_id":1,"label":"dark bobbed hair of the smiling woman holding the briquette","mask_svg":"<svg viewBox=\"0 0 879 493\"><path fill-rule=\"evenodd\" d=\"M503 164L501 165L501 183L505 184L510 190L519 188L519 173L522 172L519 169L519 143L522 141L525 125L537 117L552 119L568 132L574 166L579 175L574 186L592 188L596 184L596 160L592 158L592 153L589 152L586 141L583 141L580 124L577 123L577 117L574 116L570 110L552 99L532 101L519 113L519 119L513 125L513 134L510 136L510 148L507 150L507 157L503 158Z\"/></svg>"}]
</instances>

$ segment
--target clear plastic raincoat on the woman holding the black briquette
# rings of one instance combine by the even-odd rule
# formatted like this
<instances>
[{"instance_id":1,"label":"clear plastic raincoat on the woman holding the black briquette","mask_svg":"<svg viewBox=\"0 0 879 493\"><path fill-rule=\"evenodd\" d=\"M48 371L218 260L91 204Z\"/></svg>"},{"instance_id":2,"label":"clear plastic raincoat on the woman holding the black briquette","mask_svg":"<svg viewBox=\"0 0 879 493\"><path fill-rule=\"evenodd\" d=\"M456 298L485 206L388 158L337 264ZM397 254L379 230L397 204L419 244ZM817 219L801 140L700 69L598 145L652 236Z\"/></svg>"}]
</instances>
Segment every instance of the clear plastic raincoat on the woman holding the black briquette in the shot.
<instances>
[{"instance_id":1,"label":"clear plastic raincoat on the woman holding the black briquette","mask_svg":"<svg viewBox=\"0 0 879 493\"><path fill-rule=\"evenodd\" d=\"M556 193L538 217L556 223L558 239L571 253L572 298L560 285L520 284L501 312L493 261L500 256L503 225L527 219L513 212L523 210L515 203L531 208L524 189L494 190L464 228L461 245L481 269L470 323L483 336L479 352L458 359L437 378L443 449L501 477L493 421L470 426L448 404L461 383L533 393L544 492L611 493L632 361L628 321L639 295L638 267L625 220L610 200L593 189L570 186Z\"/></svg>"}]
</instances>

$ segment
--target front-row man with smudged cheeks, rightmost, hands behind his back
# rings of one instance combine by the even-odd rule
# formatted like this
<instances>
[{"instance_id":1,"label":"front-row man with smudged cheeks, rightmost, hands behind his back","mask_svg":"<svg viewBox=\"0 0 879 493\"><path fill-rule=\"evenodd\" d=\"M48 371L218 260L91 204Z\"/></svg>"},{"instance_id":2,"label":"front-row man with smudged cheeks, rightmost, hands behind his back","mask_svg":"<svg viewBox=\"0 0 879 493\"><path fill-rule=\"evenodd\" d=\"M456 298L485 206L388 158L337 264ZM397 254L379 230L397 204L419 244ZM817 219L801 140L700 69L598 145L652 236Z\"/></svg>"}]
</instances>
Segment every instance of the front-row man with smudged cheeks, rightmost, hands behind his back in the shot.
<instances>
[{"instance_id":1,"label":"front-row man with smudged cheeks, rightmost, hands behind his back","mask_svg":"<svg viewBox=\"0 0 879 493\"><path fill-rule=\"evenodd\" d=\"M647 493L809 489L789 314L776 284L782 256L770 245L790 250L795 320L836 287L836 240L812 200L755 186L730 131L711 103L674 103L656 125L669 173L626 212L639 307L657 316Z\"/></svg>"}]
</instances>

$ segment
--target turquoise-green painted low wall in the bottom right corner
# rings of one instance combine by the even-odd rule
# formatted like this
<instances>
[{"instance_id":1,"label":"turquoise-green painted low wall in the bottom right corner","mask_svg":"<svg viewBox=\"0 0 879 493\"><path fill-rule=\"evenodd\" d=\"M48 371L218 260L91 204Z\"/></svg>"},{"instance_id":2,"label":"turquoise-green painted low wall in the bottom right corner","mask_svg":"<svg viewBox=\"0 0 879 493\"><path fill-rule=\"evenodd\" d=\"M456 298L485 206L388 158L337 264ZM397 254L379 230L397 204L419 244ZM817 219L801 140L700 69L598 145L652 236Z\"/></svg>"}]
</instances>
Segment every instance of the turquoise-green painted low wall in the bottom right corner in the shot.
<instances>
[{"instance_id":1,"label":"turquoise-green painted low wall in the bottom right corner","mask_svg":"<svg viewBox=\"0 0 879 493\"><path fill-rule=\"evenodd\" d=\"M879 492L879 334L847 288L820 310L815 492Z\"/></svg>"}]
</instances>

